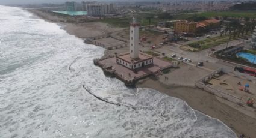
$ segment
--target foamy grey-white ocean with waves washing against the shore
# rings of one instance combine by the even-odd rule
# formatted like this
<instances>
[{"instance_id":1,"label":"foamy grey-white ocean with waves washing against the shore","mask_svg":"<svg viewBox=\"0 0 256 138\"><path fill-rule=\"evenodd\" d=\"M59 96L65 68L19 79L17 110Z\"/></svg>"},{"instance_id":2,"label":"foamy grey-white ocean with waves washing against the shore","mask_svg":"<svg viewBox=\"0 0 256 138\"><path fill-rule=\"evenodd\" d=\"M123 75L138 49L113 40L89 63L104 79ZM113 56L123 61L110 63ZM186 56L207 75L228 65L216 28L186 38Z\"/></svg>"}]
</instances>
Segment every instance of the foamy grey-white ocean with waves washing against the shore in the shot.
<instances>
[{"instance_id":1,"label":"foamy grey-white ocean with waves washing against the shore","mask_svg":"<svg viewBox=\"0 0 256 138\"><path fill-rule=\"evenodd\" d=\"M60 25L0 15L0 137L236 137L183 100L105 77L93 65L104 49Z\"/></svg>"}]
</instances>

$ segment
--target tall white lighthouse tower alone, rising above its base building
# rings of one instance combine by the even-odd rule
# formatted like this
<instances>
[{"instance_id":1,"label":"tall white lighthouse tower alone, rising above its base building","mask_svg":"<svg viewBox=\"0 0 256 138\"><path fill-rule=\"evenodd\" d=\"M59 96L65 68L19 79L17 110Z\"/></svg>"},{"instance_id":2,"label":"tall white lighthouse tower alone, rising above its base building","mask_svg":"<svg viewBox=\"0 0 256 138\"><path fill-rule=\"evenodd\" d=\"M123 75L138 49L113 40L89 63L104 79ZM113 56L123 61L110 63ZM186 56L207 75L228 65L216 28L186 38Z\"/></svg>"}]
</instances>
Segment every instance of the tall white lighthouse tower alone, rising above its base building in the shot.
<instances>
[{"instance_id":1,"label":"tall white lighthouse tower alone, rising above its base building","mask_svg":"<svg viewBox=\"0 0 256 138\"><path fill-rule=\"evenodd\" d=\"M130 57L133 59L139 58L139 26L135 17L130 23Z\"/></svg>"}]
</instances>

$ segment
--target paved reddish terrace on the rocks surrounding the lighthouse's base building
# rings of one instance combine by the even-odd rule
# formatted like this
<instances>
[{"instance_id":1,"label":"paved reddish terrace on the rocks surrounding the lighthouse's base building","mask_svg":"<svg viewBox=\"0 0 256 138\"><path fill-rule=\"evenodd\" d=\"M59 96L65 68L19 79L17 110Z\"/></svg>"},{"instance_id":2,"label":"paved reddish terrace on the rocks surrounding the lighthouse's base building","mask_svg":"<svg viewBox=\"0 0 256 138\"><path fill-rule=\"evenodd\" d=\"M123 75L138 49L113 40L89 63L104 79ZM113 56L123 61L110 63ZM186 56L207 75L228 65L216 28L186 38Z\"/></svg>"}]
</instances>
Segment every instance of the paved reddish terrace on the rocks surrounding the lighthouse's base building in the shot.
<instances>
[{"instance_id":1,"label":"paved reddish terrace on the rocks surrounding the lighthouse's base building","mask_svg":"<svg viewBox=\"0 0 256 138\"><path fill-rule=\"evenodd\" d=\"M96 64L98 64L99 67L102 67L104 71L114 74L115 77L125 83L134 83L136 80L143 77L151 74L159 74L161 70L172 67L172 63L157 57L153 58L153 64L135 70L130 70L123 65L117 64L116 57L100 59Z\"/></svg>"}]
</instances>

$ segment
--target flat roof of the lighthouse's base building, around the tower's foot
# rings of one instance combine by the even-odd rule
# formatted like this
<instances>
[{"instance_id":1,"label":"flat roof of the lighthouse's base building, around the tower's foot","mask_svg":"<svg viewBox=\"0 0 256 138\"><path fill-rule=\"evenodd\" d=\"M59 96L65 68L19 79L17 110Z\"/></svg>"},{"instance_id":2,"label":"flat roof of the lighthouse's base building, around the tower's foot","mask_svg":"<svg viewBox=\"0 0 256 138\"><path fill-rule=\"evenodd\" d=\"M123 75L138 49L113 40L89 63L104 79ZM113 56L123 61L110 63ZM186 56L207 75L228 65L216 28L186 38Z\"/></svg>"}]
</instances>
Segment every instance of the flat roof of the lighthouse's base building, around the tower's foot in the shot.
<instances>
[{"instance_id":1,"label":"flat roof of the lighthouse's base building, around the tower's foot","mask_svg":"<svg viewBox=\"0 0 256 138\"><path fill-rule=\"evenodd\" d=\"M130 53L123 53L123 54L117 56L117 58L120 58L123 61L126 61L128 63L133 62L134 64L136 64L137 62L142 62L142 61L146 61L148 59L151 59L152 56L148 55L146 53L139 52L139 58L136 58L136 59L131 58Z\"/></svg>"}]
</instances>

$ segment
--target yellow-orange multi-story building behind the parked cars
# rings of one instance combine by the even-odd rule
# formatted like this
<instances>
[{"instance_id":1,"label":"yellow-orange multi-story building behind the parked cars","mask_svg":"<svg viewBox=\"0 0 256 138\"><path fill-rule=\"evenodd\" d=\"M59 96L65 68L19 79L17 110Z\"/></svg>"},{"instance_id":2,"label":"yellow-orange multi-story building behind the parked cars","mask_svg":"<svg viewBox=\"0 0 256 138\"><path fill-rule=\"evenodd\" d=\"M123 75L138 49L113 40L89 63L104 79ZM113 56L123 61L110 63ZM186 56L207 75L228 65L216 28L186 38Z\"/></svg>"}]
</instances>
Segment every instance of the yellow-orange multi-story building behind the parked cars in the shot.
<instances>
[{"instance_id":1,"label":"yellow-orange multi-story building behind the parked cars","mask_svg":"<svg viewBox=\"0 0 256 138\"><path fill-rule=\"evenodd\" d=\"M175 34L186 32L189 34L196 33L196 22L188 22L185 20L178 21L174 23Z\"/></svg>"}]
</instances>

